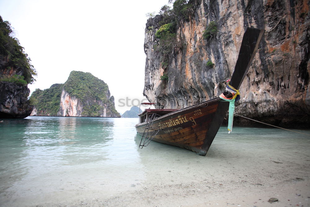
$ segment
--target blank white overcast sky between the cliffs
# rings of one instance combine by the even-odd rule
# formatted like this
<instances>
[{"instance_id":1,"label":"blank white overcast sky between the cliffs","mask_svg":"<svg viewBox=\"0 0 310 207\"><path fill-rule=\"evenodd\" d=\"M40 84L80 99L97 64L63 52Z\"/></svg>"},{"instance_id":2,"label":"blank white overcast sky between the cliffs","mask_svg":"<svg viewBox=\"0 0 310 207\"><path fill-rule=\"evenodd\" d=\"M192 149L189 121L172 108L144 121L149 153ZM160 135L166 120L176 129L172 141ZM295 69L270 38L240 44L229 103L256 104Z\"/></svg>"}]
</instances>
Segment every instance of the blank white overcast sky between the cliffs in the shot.
<instances>
[{"instance_id":1,"label":"blank white overcast sky between the cliffs","mask_svg":"<svg viewBox=\"0 0 310 207\"><path fill-rule=\"evenodd\" d=\"M158 13L167 3L0 0L0 15L11 23L38 72L37 81L28 85L30 93L64 83L72 70L90 72L108 84L116 110L124 113L133 99L145 99L145 14ZM122 106L126 97L128 106Z\"/></svg>"}]
</instances>

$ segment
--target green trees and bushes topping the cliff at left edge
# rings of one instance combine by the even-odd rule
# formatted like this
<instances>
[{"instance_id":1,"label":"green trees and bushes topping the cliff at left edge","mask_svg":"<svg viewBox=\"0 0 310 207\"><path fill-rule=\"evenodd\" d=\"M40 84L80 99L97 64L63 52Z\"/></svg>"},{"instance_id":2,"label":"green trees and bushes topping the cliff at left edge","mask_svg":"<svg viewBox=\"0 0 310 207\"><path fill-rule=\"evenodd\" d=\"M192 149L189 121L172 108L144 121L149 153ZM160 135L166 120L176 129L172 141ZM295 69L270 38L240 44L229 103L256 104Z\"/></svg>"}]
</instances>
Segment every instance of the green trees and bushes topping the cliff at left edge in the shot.
<instances>
[{"instance_id":1,"label":"green trees and bushes topping the cliff at left edge","mask_svg":"<svg viewBox=\"0 0 310 207\"><path fill-rule=\"evenodd\" d=\"M12 33L11 24L0 16L0 81L31 84L37 72L30 64L24 47L20 46L17 38L12 37Z\"/></svg>"}]
</instances>

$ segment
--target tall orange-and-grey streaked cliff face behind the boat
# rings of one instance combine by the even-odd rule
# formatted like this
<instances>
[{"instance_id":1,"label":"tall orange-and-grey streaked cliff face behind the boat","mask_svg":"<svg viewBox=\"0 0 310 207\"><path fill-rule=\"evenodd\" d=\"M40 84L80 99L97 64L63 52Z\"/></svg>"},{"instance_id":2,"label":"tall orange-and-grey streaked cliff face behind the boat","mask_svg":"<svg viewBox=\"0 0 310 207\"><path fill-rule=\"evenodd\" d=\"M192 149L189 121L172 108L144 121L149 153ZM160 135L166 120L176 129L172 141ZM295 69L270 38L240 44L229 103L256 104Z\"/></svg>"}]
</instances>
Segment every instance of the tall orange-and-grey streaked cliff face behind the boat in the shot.
<instances>
[{"instance_id":1,"label":"tall orange-and-grey streaked cliff face behind the boat","mask_svg":"<svg viewBox=\"0 0 310 207\"><path fill-rule=\"evenodd\" d=\"M179 22L175 47L163 64L154 50L162 16L147 21L144 51L144 95L158 107L180 109L218 96L230 79L246 27L265 29L265 35L241 87L235 113L283 127L310 127L309 2L189 1L193 13ZM214 38L203 39L211 21ZM208 66L208 61L214 65ZM166 74L168 80L160 80ZM255 125L235 117L234 124Z\"/></svg>"}]
</instances>

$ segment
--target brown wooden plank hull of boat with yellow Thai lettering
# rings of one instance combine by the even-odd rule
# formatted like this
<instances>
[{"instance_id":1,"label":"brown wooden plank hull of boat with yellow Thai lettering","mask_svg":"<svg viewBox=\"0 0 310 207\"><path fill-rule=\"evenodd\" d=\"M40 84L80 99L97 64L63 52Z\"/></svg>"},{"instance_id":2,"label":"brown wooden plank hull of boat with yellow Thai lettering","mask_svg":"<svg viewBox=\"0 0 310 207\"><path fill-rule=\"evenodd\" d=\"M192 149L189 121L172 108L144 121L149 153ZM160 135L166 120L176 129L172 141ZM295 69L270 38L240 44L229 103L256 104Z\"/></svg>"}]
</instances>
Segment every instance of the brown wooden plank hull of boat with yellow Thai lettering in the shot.
<instances>
[{"instance_id":1,"label":"brown wooden plank hull of boat with yellow Thai lettering","mask_svg":"<svg viewBox=\"0 0 310 207\"><path fill-rule=\"evenodd\" d=\"M154 119L152 128L157 128L159 131L153 141L206 155L215 136L212 131L217 132L221 123L217 124L216 129L210 127L218 119L219 112L226 114L228 110L228 104L220 100L215 98ZM137 132L141 136L145 126L146 123L136 125ZM148 136L154 131L150 130Z\"/></svg>"}]
</instances>

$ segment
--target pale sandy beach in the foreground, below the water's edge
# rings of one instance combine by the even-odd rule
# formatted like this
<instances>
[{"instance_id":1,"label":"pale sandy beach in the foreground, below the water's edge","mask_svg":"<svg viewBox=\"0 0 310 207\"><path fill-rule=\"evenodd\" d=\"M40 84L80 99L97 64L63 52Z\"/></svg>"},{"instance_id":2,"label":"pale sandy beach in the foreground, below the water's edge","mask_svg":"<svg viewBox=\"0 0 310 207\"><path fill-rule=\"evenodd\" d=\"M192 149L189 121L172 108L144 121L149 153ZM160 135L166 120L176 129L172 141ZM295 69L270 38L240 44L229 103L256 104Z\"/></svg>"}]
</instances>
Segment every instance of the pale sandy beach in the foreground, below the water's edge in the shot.
<instances>
[{"instance_id":1,"label":"pale sandy beach in the foreground, below the water's edge","mask_svg":"<svg viewBox=\"0 0 310 207\"><path fill-rule=\"evenodd\" d=\"M213 159L215 166L198 159L197 169L185 171L172 162L149 172L148 182L137 178L122 188L80 183L47 195L29 189L3 206L310 206L310 160ZM278 201L269 203L272 197Z\"/></svg>"}]
</instances>

